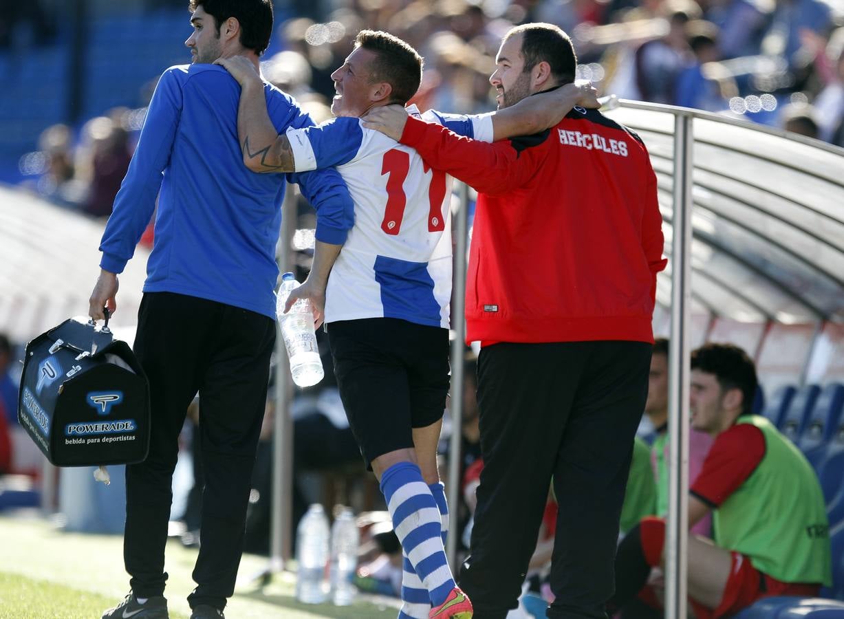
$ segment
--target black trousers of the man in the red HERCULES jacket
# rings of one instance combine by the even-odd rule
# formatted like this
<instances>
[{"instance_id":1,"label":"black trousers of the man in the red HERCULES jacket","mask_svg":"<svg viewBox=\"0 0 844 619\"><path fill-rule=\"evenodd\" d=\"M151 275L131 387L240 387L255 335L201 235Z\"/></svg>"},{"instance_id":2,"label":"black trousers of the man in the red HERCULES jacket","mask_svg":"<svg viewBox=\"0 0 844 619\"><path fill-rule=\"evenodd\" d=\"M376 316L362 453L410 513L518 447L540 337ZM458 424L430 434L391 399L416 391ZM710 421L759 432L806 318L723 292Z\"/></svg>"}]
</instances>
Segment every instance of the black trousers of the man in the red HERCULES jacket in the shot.
<instances>
[{"instance_id":1,"label":"black trousers of the man in the red HERCULES jacket","mask_svg":"<svg viewBox=\"0 0 844 619\"><path fill-rule=\"evenodd\" d=\"M516 608L552 477L560 511L548 616L606 616L651 350L625 341L481 350L484 470L459 580L476 619L503 619Z\"/></svg>"}]
</instances>

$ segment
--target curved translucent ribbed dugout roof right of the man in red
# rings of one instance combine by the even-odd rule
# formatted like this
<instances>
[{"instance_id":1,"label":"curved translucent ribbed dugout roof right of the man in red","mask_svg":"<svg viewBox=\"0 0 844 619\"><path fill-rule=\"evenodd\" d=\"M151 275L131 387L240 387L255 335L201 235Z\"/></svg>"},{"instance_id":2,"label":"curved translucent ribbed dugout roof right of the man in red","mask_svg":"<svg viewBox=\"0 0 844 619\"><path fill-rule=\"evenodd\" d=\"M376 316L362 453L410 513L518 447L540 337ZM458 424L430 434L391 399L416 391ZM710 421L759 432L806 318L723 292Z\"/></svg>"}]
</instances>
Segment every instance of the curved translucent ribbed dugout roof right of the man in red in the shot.
<instances>
[{"instance_id":1,"label":"curved translucent ribbed dugout roof right of the man in red","mask_svg":"<svg viewBox=\"0 0 844 619\"><path fill-rule=\"evenodd\" d=\"M674 122L693 120L693 309L742 322L844 323L844 149L701 111L619 101L657 173L665 253L674 219ZM657 302L671 302L671 264Z\"/></svg>"}]
</instances>

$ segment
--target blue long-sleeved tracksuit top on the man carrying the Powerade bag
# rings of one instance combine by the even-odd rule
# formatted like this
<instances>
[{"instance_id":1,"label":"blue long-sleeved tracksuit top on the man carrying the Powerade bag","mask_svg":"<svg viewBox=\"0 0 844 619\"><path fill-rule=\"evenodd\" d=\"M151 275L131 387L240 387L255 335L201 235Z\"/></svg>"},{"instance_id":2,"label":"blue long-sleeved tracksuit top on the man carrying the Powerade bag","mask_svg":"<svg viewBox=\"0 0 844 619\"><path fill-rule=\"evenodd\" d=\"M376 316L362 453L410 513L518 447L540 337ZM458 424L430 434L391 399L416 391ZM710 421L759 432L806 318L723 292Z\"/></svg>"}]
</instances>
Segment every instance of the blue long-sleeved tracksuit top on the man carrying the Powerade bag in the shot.
<instances>
[{"instance_id":1,"label":"blue long-sleeved tracksuit top on the man carrying the Powerade bag","mask_svg":"<svg viewBox=\"0 0 844 619\"><path fill-rule=\"evenodd\" d=\"M312 125L295 100L265 86L273 125ZM354 204L337 171L256 174L237 137L241 89L214 64L170 67L149 103L138 148L100 242L100 267L121 273L158 196L144 292L177 292L275 317L285 180L317 209L317 240L343 244ZM160 189L160 192L159 192Z\"/></svg>"}]
</instances>

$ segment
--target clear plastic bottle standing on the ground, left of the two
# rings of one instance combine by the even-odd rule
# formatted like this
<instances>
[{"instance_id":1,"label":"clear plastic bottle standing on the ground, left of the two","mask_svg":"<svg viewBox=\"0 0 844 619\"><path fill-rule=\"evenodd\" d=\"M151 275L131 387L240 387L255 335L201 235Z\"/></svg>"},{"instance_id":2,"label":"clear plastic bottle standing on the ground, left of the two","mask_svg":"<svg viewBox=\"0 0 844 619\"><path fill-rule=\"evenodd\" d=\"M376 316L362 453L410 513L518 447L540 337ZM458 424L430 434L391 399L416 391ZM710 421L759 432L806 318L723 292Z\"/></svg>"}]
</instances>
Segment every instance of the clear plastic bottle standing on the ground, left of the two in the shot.
<instances>
[{"instance_id":1,"label":"clear plastic bottle standing on the ground, left of the two","mask_svg":"<svg viewBox=\"0 0 844 619\"><path fill-rule=\"evenodd\" d=\"M321 604L326 600L322 577L328 564L328 519L322 505L315 503L296 529L296 600Z\"/></svg>"}]
</instances>

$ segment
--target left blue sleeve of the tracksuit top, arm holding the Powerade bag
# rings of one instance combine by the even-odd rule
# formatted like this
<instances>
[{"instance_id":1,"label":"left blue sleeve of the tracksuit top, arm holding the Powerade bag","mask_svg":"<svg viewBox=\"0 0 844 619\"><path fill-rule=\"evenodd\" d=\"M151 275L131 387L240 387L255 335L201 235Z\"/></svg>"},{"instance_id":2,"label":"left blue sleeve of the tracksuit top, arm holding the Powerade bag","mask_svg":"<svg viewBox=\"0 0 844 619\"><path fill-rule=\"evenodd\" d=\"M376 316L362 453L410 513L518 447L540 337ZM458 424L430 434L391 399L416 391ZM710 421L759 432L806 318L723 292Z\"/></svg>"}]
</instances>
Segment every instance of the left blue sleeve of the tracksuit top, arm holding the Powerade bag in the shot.
<instances>
[{"instance_id":1,"label":"left blue sleeve of the tracksuit top, arm holding the Powerade bag","mask_svg":"<svg viewBox=\"0 0 844 619\"><path fill-rule=\"evenodd\" d=\"M111 273L122 273L126 268L155 209L162 173L170 161L181 117L178 79L181 70L169 68L155 87L138 147L114 198L114 208L100 242L103 252L100 267Z\"/></svg>"}]
</instances>

